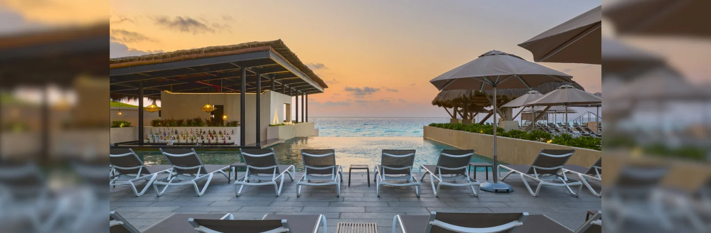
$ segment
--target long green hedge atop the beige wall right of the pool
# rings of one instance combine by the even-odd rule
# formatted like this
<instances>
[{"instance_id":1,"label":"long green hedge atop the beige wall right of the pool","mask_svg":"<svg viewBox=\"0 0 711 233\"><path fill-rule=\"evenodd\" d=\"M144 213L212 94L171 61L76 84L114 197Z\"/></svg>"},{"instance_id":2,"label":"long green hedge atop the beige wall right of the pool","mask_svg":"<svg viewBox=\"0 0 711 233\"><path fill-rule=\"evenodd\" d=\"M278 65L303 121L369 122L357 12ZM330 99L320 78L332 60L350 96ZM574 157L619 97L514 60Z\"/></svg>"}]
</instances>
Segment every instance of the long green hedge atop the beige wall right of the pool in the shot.
<instances>
[{"instance_id":1,"label":"long green hedge atop the beige wall right of the pool","mask_svg":"<svg viewBox=\"0 0 711 233\"><path fill-rule=\"evenodd\" d=\"M493 125L464 125L461 123L432 123L431 127L439 127L447 130L460 130L466 132L476 132L485 135L493 135ZM562 144L569 147L580 147L586 149L601 150L602 140L597 137L572 137L572 135L552 135L550 132L541 130L531 130L524 132L521 130L509 130L506 132L502 127L496 127L496 135L499 137L510 137L520 140L535 142L547 142L552 144Z\"/></svg>"}]
</instances>

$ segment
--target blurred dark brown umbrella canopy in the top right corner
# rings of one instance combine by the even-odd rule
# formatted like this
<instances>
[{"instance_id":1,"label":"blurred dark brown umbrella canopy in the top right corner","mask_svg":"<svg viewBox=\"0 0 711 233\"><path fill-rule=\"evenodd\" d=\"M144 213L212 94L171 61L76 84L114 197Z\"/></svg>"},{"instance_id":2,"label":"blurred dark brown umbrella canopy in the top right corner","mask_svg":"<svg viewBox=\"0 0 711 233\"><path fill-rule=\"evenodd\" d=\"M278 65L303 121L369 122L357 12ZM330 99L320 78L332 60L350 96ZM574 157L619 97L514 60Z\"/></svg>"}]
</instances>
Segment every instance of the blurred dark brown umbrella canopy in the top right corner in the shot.
<instances>
[{"instance_id":1,"label":"blurred dark brown umbrella canopy in the top right corner","mask_svg":"<svg viewBox=\"0 0 711 233\"><path fill-rule=\"evenodd\" d=\"M708 0L636 0L605 5L602 12L621 35L711 37Z\"/></svg>"}]
</instances>

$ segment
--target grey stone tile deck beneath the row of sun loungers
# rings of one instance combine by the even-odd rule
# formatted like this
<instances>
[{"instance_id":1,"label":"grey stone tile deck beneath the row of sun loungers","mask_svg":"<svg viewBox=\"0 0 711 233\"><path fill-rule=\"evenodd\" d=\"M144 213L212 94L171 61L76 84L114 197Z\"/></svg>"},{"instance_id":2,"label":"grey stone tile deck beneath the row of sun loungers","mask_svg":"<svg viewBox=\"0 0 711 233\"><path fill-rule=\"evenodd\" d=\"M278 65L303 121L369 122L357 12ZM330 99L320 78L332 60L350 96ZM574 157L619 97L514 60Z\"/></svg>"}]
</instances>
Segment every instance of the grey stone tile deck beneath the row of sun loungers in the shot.
<instances>
[{"instance_id":1,"label":"grey stone tile deck beneath the row of sun loungers","mask_svg":"<svg viewBox=\"0 0 711 233\"><path fill-rule=\"evenodd\" d=\"M241 175L242 173L240 173ZM484 173L477 173L477 180L484 182ZM372 176L372 174L371 174ZM296 174L295 178L300 178ZM491 174L489 174L491 178ZM424 179L420 198L415 188L383 187L380 198L375 195L375 183L370 187L365 182L365 172L353 172L351 187L348 187L348 172L343 176L341 197L336 197L335 186L304 186L301 197L296 197L296 181L288 176L284 181L282 195L274 194L273 186L245 186L246 191L235 197L234 185L227 178L216 174L205 195L198 197L192 186L173 186L169 193L156 197L150 188L141 197L135 197L129 186L111 189L111 210L119 212L132 225L143 230L154 225L173 212L227 213L238 219L258 220L265 214L323 214L328 223L328 232L336 232L338 222L375 222L379 232L392 231L395 215L427 215L439 212L529 212L543 214L568 228L576 229L585 220L587 210L602 210L602 200L583 187L578 198L567 193L563 187L544 186L539 196L533 197L517 177L506 181L514 188L512 193L481 192L479 198L471 195L466 187L442 188L435 198ZM593 181L594 182L594 181ZM142 185L141 185L142 186ZM592 183L599 188L599 183ZM400 230L398 229L398 232Z\"/></svg>"}]
</instances>

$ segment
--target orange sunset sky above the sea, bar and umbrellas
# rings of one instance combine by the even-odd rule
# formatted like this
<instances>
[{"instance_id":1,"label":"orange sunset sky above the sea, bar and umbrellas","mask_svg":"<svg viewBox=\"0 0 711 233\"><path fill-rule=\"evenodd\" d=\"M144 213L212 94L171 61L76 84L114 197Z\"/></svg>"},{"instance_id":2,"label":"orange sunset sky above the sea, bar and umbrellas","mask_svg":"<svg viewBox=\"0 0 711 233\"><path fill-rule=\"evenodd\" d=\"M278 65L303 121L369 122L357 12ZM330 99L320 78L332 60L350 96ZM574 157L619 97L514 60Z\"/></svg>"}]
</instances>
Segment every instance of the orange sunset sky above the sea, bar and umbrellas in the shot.
<instances>
[{"instance_id":1,"label":"orange sunset sky above the sea, bar and umbrellas","mask_svg":"<svg viewBox=\"0 0 711 233\"><path fill-rule=\"evenodd\" d=\"M430 79L494 49L532 60L516 44L600 4L537 2L111 1L112 57L282 39L322 64L310 116L447 116ZM600 91L599 65L544 65Z\"/></svg>"}]
</instances>

